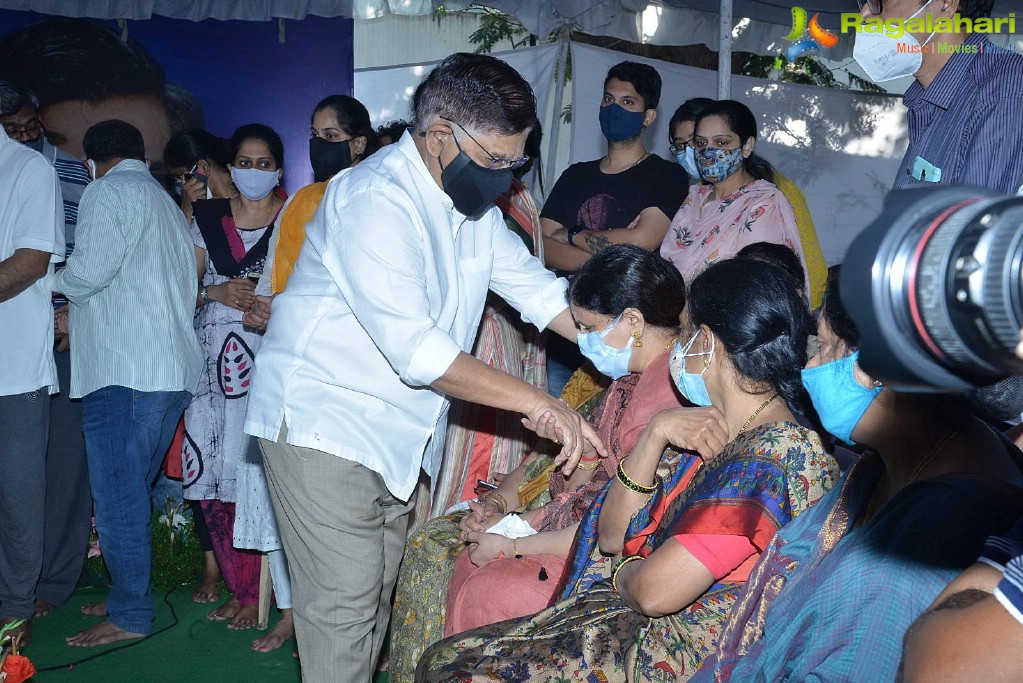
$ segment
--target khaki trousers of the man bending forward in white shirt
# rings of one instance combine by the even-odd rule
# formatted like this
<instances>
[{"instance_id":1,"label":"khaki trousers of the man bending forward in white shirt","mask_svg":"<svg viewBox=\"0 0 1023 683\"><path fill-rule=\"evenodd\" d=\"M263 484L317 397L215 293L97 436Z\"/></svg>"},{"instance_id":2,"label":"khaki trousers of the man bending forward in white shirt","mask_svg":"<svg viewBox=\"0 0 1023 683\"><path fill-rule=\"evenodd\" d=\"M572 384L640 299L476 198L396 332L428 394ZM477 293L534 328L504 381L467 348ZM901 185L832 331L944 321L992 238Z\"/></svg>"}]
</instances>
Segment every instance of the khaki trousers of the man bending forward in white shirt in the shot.
<instances>
[{"instance_id":1,"label":"khaki trousers of the man bending forward in white shirt","mask_svg":"<svg viewBox=\"0 0 1023 683\"><path fill-rule=\"evenodd\" d=\"M260 439L292 572L305 683L372 680L413 499L351 460Z\"/></svg>"}]
</instances>

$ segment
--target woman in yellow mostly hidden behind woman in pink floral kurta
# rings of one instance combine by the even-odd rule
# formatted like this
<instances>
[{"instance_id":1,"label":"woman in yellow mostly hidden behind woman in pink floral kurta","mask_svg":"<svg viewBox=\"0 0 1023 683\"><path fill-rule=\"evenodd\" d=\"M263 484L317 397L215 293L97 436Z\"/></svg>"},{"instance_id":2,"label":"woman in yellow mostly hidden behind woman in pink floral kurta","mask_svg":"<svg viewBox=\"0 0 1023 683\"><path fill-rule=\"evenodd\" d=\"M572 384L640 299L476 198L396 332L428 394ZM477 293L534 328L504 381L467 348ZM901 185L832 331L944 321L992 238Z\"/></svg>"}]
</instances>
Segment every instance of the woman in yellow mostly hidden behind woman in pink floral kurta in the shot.
<instances>
[{"instance_id":1,"label":"woman in yellow mostly hidden behind woman in pink floral kurta","mask_svg":"<svg viewBox=\"0 0 1023 683\"><path fill-rule=\"evenodd\" d=\"M675 109L668 124L669 149L675 155L675 160L685 169L690 180L699 183L703 179L700 176L700 166L697 164L697 149L694 145L694 135L697 129L697 119L708 105L714 104L714 100L707 97L694 97L681 103ZM755 155L751 155L754 157ZM817 238L816 228L813 227L813 218L810 216L810 209L806 206L806 197L796 183L783 175L777 169L771 167L762 158L755 157L754 174L757 171L762 180L772 183L792 207L793 216L796 219L796 228L799 230L799 241L803 252L800 255L806 263L806 275L810 283L810 308L816 310L820 306L820 300L825 293L825 284L828 280L828 263L825 261L824 252L820 251L820 240Z\"/></svg>"}]
</instances>

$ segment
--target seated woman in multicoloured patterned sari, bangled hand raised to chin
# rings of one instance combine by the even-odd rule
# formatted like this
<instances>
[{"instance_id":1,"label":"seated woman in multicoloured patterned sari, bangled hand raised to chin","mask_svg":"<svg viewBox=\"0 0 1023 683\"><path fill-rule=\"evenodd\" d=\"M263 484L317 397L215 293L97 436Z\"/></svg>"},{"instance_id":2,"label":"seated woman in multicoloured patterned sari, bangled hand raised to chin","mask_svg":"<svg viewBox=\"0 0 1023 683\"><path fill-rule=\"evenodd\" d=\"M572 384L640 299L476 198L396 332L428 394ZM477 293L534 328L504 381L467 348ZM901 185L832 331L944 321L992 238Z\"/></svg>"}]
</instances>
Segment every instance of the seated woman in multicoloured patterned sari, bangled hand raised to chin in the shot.
<instances>
[{"instance_id":1,"label":"seated woman in multicoloured patterned sari, bangled hand raised to chin","mask_svg":"<svg viewBox=\"0 0 1023 683\"><path fill-rule=\"evenodd\" d=\"M806 402L810 322L777 268L711 266L683 327L672 378L702 407L658 414L619 461L581 523L561 600L438 643L417 680L687 680L713 651L759 553L838 468L790 408Z\"/></svg>"}]
</instances>

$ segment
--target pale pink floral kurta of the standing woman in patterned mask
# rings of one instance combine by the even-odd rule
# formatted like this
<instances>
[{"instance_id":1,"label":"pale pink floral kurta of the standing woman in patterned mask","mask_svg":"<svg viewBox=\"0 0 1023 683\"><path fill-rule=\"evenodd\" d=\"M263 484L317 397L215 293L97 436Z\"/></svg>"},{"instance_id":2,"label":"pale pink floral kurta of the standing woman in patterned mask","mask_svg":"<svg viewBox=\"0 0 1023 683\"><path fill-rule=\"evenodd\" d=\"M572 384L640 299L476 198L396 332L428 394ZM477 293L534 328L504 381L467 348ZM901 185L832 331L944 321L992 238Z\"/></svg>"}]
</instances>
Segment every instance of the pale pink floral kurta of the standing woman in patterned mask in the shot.
<instances>
[{"instance_id":1,"label":"pale pink floral kurta of the standing woman in patterned mask","mask_svg":"<svg viewBox=\"0 0 1023 683\"><path fill-rule=\"evenodd\" d=\"M796 217L782 190L766 180L756 180L712 200L713 189L713 185L690 187L690 195L661 242L661 256L674 264L686 284L715 261L730 259L755 242L785 244L807 272ZM809 291L809 280L805 286L804 291Z\"/></svg>"}]
</instances>

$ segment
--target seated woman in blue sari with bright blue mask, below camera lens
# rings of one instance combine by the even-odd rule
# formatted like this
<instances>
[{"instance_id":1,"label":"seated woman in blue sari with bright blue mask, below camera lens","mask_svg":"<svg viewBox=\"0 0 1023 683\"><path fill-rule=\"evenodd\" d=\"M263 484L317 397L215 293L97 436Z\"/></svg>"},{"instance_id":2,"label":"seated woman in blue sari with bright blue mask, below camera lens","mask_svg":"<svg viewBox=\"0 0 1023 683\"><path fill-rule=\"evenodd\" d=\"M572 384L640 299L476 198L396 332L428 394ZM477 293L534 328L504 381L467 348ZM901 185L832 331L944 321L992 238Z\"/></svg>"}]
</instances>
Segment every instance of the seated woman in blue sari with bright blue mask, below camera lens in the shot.
<instances>
[{"instance_id":1,"label":"seated woman in blue sari with bright blue mask, below camera lens","mask_svg":"<svg viewBox=\"0 0 1023 683\"><path fill-rule=\"evenodd\" d=\"M894 680L906 628L1020 513L1015 448L962 397L861 370L835 269L817 334L803 382L825 427L869 450L779 533L695 680Z\"/></svg>"}]
</instances>

